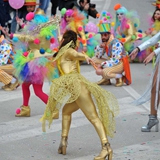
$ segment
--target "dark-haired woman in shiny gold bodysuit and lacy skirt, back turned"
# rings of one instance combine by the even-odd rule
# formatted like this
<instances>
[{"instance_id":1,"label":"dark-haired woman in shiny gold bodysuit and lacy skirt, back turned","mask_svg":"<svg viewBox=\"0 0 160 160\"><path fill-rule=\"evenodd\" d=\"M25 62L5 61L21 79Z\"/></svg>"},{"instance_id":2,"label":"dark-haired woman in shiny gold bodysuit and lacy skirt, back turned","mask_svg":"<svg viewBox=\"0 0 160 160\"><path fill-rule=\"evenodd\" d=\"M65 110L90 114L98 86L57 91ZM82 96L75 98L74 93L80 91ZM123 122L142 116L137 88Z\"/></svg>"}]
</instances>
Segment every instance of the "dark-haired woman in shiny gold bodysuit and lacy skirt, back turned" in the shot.
<instances>
[{"instance_id":1,"label":"dark-haired woman in shiny gold bodysuit and lacy skirt, back turned","mask_svg":"<svg viewBox=\"0 0 160 160\"><path fill-rule=\"evenodd\" d=\"M67 139L72 113L81 109L87 119L95 127L102 144L102 150L94 160L112 160L112 149L107 136L113 137L115 132L114 117L119 106L114 95L95 83L89 82L80 74L79 61L92 61L87 55L75 50L77 34L74 31L64 33L59 52L55 57L60 77L52 81L47 107L41 121L45 131L45 121L52 123L52 113L62 109L62 139L59 154L66 154ZM91 96L92 95L92 96ZM95 101L93 102L93 99Z\"/></svg>"}]
</instances>

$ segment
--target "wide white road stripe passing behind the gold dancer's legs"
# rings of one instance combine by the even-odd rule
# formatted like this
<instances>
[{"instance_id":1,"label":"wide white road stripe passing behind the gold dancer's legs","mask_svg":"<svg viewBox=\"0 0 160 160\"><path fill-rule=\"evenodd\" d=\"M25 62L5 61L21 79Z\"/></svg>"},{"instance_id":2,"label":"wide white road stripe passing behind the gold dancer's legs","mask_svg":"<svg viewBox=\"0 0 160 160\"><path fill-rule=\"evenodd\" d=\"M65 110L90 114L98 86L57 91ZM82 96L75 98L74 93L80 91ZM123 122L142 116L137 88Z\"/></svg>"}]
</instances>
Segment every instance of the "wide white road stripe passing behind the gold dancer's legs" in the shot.
<instances>
[{"instance_id":1,"label":"wide white road stripe passing behind the gold dancer's legs","mask_svg":"<svg viewBox=\"0 0 160 160\"><path fill-rule=\"evenodd\" d=\"M145 112L143 108L129 105L133 101L131 97L124 97L118 99L120 105L119 117L124 115L133 114L136 112ZM60 112L61 113L61 112ZM43 135L41 122L39 119L42 115L29 117L29 118L17 118L17 120L0 123L0 142L8 143L20 139ZM89 124L90 122L85 118L83 113L79 110L73 114L73 121L71 128L77 128ZM46 128L47 129L47 128ZM61 116L60 119L55 120L50 129L47 129L46 133L53 133L61 130Z\"/></svg>"}]
</instances>

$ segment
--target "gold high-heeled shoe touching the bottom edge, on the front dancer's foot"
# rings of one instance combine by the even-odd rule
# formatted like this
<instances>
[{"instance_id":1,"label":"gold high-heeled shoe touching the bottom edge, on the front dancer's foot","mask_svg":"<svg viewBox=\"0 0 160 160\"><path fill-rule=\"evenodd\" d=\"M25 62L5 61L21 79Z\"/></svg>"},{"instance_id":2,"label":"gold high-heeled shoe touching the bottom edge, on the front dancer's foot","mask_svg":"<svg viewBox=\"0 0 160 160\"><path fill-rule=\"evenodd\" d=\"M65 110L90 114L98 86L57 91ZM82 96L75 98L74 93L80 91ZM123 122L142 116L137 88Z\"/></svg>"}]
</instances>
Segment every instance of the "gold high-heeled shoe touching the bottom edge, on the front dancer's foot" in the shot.
<instances>
[{"instance_id":1,"label":"gold high-heeled shoe touching the bottom edge, on the front dancer's foot","mask_svg":"<svg viewBox=\"0 0 160 160\"><path fill-rule=\"evenodd\" d=\"M110 147L110 143L104 143L102 144L102 150L98 156L94 158L94 160L105 160L108 156L108 160L112 160L112 148Z\"/></svg>"}]
</instances>

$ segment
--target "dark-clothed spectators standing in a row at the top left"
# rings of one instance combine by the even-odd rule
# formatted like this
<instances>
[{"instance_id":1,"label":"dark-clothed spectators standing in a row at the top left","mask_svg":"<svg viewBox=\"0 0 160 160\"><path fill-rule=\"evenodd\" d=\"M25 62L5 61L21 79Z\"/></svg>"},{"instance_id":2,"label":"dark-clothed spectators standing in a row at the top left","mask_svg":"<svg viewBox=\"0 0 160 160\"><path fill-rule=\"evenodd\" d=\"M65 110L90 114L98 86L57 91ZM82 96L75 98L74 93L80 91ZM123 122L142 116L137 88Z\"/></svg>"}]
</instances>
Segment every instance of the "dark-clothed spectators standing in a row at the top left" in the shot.
<instances>
[{"instance_id":1,"label":"dark-clothed spectators standing in a row at the top left","mask_svg":"<svg viewBox=\"0 0 160 160\"><path fill-rule=\"evenodd\" d=\"M57 10L60 11L62 8L71 9L73 7L78 8L80 11L84 11L87 18L89 16L96 18L98 13L96 10L96 5L91 4L90 0L39 0L37 1L37 6L24 5L18 10L13 9L9 5L8 0L0 0L0 25L2 27L9 28L10 33L15 33L17 29L20 29L20 26L17 26L17 21L19 19L25 21L27 13L34 12L35 8L41 8L45 13L47 13L47 9L50 6L50 3L51 16L55 16Z\"/></svg>"}]
</instances>

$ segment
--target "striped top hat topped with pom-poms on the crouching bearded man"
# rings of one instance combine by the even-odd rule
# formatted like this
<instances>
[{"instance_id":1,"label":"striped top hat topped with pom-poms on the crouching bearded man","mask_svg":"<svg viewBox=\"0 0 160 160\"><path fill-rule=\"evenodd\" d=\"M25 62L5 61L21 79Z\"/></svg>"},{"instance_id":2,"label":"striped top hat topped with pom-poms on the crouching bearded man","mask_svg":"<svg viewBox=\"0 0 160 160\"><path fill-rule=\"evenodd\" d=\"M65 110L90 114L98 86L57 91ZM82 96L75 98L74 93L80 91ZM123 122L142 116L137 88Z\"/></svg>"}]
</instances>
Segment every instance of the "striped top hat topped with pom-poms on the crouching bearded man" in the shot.
<instances>
[{"instance_id":1,"label":"striped top hat topped with pom-poms on the crouching bearded man","mask_svg":"<svg viewBox=\"0 0 160 160\"><path fill-rule=\"evenodd\" d=\"M107 11L102 12L98 24L99 33L111 32L111 19L112 16L109 12Z\"/></svg>"}]
</instances>

